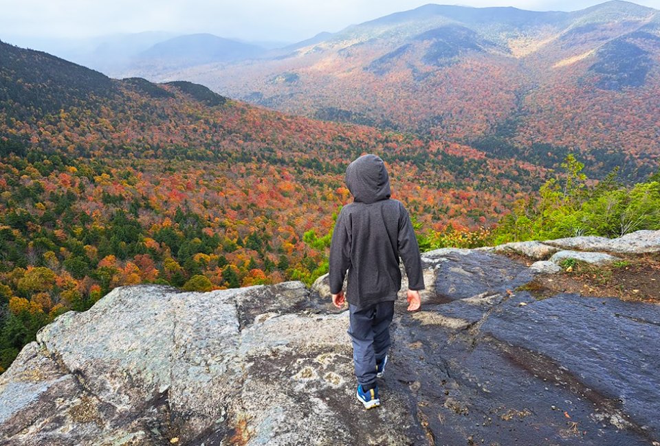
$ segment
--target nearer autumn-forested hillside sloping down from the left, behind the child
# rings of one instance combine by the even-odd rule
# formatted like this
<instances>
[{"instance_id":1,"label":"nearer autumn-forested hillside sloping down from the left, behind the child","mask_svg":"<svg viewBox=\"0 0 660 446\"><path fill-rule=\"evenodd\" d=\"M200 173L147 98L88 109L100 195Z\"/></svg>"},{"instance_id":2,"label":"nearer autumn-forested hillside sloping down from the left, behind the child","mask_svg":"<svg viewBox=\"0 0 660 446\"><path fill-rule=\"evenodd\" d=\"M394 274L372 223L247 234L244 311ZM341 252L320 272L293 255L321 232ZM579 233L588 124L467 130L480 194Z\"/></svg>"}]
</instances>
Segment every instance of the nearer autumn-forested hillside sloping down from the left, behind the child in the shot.
<instances>
[{"instance_id":1,"label":"nearer autumn-forested hillside sloping down from the left, behind the child","mask_svg":"<svg viewBox=\"0 0 660 446\"><path fill-rule=\"evenodd\" d=\"M544 176L190 82L112 80L4 43L0 59L1 368L39 327L119 285L311 283L351 200L345 168L364 152L386 159L394 196L427 231L489 226Z\"/></svg>"}]
</instances>

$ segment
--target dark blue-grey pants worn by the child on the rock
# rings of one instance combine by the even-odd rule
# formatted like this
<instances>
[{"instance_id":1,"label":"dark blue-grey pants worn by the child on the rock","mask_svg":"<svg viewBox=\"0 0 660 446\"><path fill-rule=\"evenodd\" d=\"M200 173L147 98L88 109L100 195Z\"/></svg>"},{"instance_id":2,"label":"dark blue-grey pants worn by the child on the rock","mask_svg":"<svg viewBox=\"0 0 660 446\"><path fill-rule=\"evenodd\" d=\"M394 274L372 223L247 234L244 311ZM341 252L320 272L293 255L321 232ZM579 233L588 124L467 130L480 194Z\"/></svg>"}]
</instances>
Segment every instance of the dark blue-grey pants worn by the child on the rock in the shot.
<instances>
[{"instance_id":1,"label":"dark blue-grey pants worn by the child on the rock","mask_svg":"<svg viewBox=\"0 0 660 446\"><path fill-rule=\"evenodd\" d=\"M355 377L362 386L376 380L376 362L381 362L390 347L390 322L394 316L394 301L381 302L358 309L349 304L353 340Z\"/></svg>"}]
</instances>

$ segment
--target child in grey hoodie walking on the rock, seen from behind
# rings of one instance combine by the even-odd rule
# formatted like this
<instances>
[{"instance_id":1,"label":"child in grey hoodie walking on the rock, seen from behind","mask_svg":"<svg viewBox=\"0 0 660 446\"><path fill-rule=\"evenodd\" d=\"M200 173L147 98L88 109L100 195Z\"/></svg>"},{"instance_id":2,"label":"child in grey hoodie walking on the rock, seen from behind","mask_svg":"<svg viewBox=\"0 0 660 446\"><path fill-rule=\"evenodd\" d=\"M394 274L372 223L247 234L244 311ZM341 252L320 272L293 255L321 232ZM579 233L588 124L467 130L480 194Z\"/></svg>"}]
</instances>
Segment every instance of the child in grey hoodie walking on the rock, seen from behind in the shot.
<instances>
[{"instance_id":1,"label":"child in grey hoodie walking on the rock, seen from behind","mask_svg":"<svg viewBox=\"0 0 660 446\"><path fill-rule=\"evenodd\" d=\"M417 290L424 289L424 280L415 231L404 205L390 198L383 160L360 156L346 169L346 185L354 200L340 212L332 234L330 292L338 308L349 301L358 399L371 409L380 406L376 378L382 377L387 363L389 326L401 288L399 256L408 276L409 312L421 305Z\"/></svg>"}]
</instances>

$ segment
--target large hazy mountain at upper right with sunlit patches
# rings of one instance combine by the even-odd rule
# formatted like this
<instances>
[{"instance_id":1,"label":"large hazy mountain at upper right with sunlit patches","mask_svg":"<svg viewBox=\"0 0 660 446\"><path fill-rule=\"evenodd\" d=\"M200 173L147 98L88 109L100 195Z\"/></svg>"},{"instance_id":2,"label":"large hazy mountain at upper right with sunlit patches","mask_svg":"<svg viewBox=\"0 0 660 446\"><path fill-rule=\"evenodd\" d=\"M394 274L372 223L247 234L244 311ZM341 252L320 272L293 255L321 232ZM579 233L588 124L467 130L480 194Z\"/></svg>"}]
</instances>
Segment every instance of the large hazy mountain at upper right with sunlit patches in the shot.
<instances>
[{"instance_id":1,"label":"large hazy mountain at upper right with sunlit patches","mask_svg":"<svg viewBox=\"0 0 660 446\"><path fill-rule=\"evenodd\" d=\"M625 1L576 12L425 5L176 75L287 113L504 158L550 165L548 152L580 151L597 175L619 166L639 179L660 154L660 12Z\"/></svg>"}]
</instances>

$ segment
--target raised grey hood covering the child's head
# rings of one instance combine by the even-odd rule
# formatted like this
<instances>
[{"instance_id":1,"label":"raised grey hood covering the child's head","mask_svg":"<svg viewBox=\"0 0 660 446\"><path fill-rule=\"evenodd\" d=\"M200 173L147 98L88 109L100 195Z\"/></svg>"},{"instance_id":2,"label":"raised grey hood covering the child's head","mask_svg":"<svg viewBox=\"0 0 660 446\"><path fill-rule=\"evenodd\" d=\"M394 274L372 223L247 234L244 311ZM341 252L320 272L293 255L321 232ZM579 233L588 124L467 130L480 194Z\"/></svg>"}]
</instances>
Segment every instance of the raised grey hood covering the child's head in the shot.
<instances>
[{"instance_id":1,"label":"raised grey hood covering the child's head","mask_svg":"<svg viewBox=\"0 0 660 446\"><path fill-rule=\"evenodd\" d=\"M346 185L355 201L373 203L390 198L390 177L379 156L363 155L346 169Z\"/></svg>"}]
</instances>

